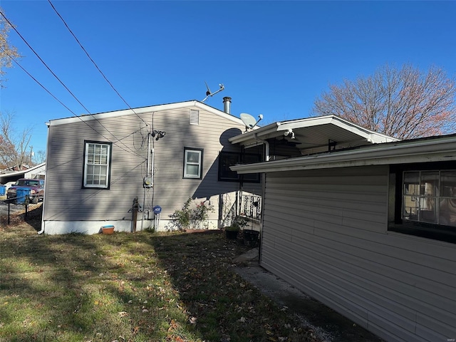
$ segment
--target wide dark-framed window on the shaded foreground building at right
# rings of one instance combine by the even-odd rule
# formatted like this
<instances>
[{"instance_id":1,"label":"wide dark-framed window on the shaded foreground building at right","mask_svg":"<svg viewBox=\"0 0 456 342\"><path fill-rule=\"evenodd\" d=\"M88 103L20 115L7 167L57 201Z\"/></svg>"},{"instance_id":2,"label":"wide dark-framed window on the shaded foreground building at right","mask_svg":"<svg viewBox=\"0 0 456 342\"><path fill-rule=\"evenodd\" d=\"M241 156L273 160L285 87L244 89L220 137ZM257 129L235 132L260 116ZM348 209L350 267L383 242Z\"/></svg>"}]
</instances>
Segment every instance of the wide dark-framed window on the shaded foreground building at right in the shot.
<instances>
[{"instance_id":1,"label":"wide dark-framed window on the shaded foreground building at right","mask_svg":"<svg viewBox=\"0 0 456 342\"><path fill-rule=\"evenodd\" d=\"M432 166L442 164L399 167L392 174L389 229L456 243L456 170Z\"/></svg>"}]
</instances>

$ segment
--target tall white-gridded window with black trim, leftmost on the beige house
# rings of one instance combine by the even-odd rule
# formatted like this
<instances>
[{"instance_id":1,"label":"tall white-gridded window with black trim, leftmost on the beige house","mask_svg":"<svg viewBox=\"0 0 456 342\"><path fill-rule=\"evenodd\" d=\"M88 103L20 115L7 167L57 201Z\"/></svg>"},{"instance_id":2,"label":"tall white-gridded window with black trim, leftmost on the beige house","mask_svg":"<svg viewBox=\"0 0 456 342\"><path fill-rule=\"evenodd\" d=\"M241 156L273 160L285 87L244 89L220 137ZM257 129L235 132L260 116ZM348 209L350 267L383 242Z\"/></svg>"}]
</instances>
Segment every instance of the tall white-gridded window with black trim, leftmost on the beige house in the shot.
<instances>
[{"instance_id":1,"label":"tall white-gridded window with black trim, leftmost on the beige house","mask_svg":"<svg viewBox=\"0 0 456 342\"><path fill-rule=\"evenodd\" d=\"M85 142L83 187L109 189L110 142Z\"/></svg>"}]
</instances>

